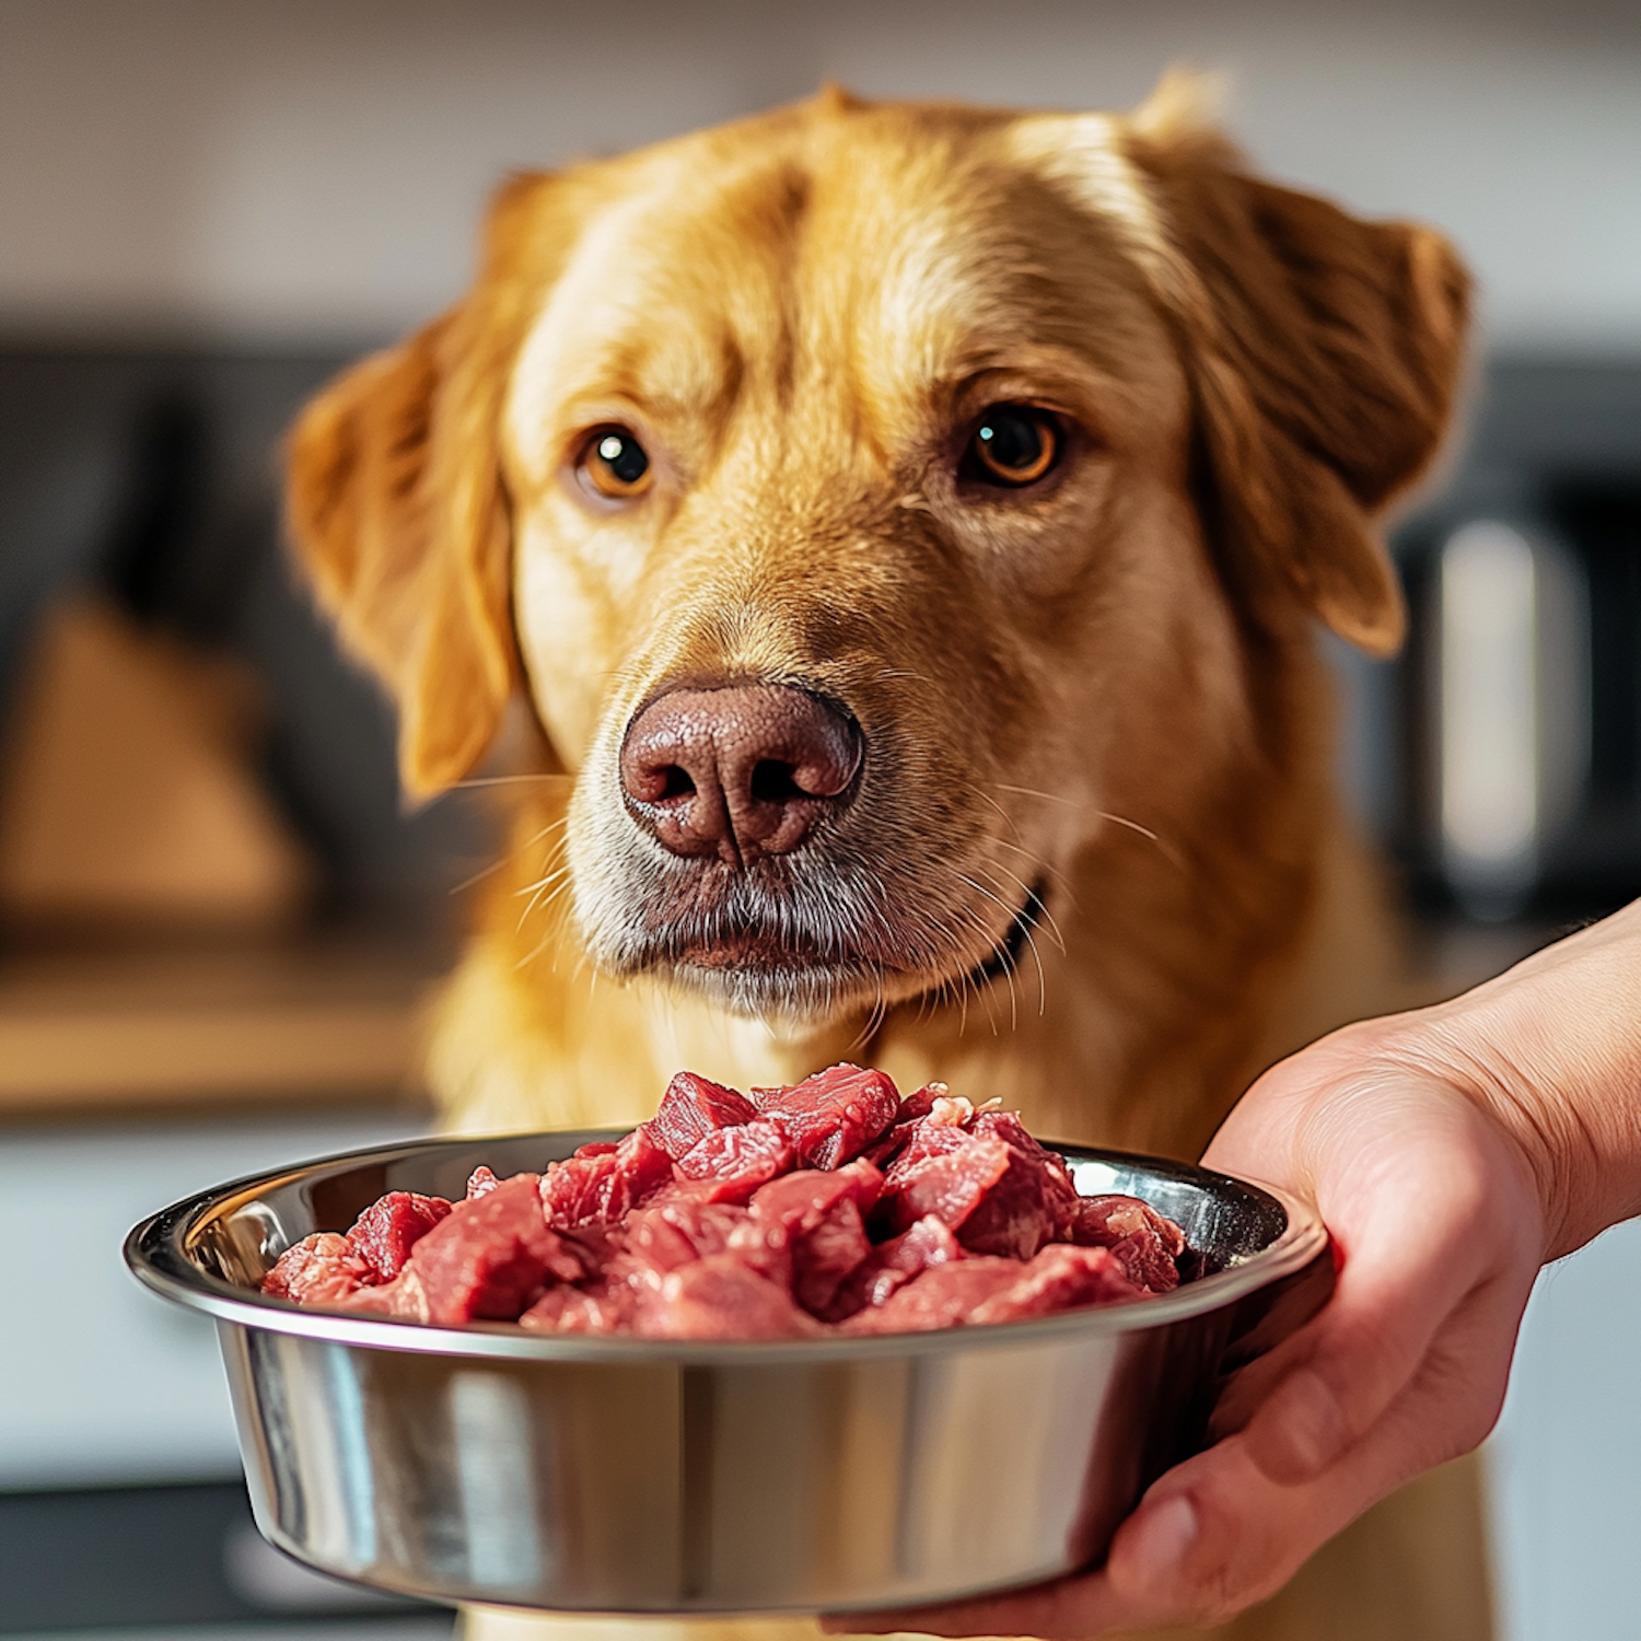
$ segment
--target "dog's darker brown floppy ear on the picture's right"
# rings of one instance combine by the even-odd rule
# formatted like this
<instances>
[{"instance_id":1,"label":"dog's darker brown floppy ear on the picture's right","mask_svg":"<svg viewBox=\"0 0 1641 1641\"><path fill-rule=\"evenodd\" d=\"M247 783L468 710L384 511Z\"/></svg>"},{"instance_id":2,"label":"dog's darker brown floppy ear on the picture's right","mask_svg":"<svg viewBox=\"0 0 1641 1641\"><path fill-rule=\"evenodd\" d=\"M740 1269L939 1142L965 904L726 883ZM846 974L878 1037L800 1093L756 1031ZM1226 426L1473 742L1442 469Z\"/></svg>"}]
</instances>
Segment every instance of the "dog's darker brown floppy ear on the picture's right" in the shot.
<instances>
[{"instance_id":1,"label":"dog's darker brown floppy ear on the picture's right","mask_svg":"<svg viewBox=\"0 0 1641 1641\"><path fill-rule=\"evenodd\" d=\"M1250 176L1178 80L1121 130L1160 230L1154 277L1183 333L1226 568L1275 569L1336 633L1393 653L1406 617L1374 520L1447 428L1462 263L1429 228Z\"/></svg>"}]
</instances>

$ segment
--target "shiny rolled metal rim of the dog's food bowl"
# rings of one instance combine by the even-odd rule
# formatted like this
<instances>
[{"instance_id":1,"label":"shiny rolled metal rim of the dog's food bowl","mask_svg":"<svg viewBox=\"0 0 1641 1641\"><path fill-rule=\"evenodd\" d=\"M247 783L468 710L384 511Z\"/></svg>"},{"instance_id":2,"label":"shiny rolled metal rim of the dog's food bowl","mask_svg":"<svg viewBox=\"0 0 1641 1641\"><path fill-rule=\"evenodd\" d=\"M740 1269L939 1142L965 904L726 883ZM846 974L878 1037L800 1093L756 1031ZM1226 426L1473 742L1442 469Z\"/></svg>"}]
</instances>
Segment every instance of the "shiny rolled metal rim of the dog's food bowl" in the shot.
<instances>
[{"instance_id":1,"label":"shiny rolled metal rim of the dog's food bowl","mask_svg":"<svg viewBox=\"0 0 1641 1641\"><path fill-rule=\"evenodd\" d=\"M866 1334L829 1339L632 1339L619 1336L587 1337L584 1334L543 1334L514 1323L469 1323L464 1328L433 1328L427 1323L395 1321L386 1316L350 1316L343 1311L309 1310L289 1300L276 1300L249 1291L205 1272L189 1257L187 1247L197 1231L230 1208L254 1200L269 1190L292 1185L320 1170L343 1170L348 1165L400 1162L417 1152L438 1149L473 1149L486 1142L519 1139L576 1139L578 1142L610 1139L625 1129L543 1129L527 1134L441 1136L397 1145L368 1145L359 1150L335 1152L312 1162L264 1173L245 1175L226 1185L185 1196L169 1208L133 1226L125 1239L125 1262L133 1275L154 1293L220 1323L266 1332L295 1334L341 1346L376 1351L412 1351L427 1355L535 1362L627 1362L632 1365L752 1365L757 1362L812 1362L939 1354L952 1349L1014 1346L1062 1336L1126 1334L1147 1328L1204 1316L1260 1288L1280 1282L1311 1264L1328 1249L1328 1231L1314 1208L1265 1182L1214 1173L1195 1163L1149 1157L1140 1152L1109 1150L1095 1145L1044 1140L1072 1162L1104 1162L1142 1167L1175 1182L1209 1191L1252 1191L1277 1203L1287 1214L1287 1227L1268 1246L1226 1270L1190 1282L1173 1293L1154 1295L1121 1305L1062 1311L1055 1316L1016 1323L991 1323L981 1328L939 1328L924 1332Z\"/></svg>"}]
</instances>

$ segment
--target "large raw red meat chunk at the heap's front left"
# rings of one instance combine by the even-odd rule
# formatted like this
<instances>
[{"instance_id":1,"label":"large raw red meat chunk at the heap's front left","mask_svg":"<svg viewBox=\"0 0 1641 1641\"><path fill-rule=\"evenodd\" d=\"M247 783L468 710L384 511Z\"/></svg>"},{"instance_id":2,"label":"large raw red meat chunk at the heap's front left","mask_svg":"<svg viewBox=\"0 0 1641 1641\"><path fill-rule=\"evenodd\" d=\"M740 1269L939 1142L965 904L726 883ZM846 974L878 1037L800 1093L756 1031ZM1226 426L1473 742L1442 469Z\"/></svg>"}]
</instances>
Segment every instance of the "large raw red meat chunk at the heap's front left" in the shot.
<instances>
[{"instance_id":1,"label":"large raw red meat chunk at the heap's front left","mask_svg":"<svg viewBox=\"0 0 1641 1641\"><path fill-rule=\"evenodd\" d=\"M542 1218L533 1173L463 1203L417 1242L410 1265L441 1328L512 1321L543 1282L581 1275L581 1262Z\"/></svg>"}]
</instances>

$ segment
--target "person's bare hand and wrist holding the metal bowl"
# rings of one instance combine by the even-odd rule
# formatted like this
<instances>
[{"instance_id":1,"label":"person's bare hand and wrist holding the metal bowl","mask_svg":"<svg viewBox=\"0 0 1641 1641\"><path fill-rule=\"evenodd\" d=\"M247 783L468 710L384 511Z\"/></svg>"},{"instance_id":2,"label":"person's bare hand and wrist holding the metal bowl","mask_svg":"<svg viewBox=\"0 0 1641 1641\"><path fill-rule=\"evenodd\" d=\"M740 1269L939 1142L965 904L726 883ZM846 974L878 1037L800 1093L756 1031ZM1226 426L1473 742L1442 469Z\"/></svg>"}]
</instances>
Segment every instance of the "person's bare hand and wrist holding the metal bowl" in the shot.
<instances>
[{"instance_id":1,"label":"person's bare hand and wrist holding the metal bowl","mask_svg":"<svg viewBox=\"0 0 1641 1641\"><path fill-rule=\"evenodd\" d=\"M1316 1201L1328 1310L1232 1387L1106 1566L830 1628L1098 1636L1224 1620L1493 1428L1539 1267L1641 1213L1641 901L1451 1003L1267 1072L1204 1162Z\"/></svg>"}]
</instances>

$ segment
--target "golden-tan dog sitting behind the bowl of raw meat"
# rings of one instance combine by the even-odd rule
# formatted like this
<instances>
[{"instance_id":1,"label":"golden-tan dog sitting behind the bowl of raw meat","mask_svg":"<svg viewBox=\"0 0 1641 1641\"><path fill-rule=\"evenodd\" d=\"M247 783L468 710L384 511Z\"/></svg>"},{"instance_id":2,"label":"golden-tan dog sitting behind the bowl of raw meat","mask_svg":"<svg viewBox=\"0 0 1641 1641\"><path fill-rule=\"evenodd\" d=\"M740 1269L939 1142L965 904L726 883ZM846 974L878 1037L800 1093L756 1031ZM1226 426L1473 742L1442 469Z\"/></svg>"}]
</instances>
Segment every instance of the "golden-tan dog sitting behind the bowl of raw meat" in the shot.
<instances>
[{"instance_id":1,"label":"golden-tan dog sitting behind the bowl of raw meat","mask_svg":"<svg viewBox=\"0 0 1641 1641\"><path fill-rule=\"evenodd\" d=\"M1178 77L1127 117L827 89L512 179L469 294L289 450L407 791L512 745L450 1124L848 1057L1193 1157L1398 1001L1316 629L1400 643L1377 520L1467 300L1441 236L1257 179ZM1221 1633L1483 1636L1474 1477L1431 1485ZM520 1621L620 1628L474 1620Z\"/></svg>"}]
</instances>

